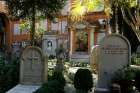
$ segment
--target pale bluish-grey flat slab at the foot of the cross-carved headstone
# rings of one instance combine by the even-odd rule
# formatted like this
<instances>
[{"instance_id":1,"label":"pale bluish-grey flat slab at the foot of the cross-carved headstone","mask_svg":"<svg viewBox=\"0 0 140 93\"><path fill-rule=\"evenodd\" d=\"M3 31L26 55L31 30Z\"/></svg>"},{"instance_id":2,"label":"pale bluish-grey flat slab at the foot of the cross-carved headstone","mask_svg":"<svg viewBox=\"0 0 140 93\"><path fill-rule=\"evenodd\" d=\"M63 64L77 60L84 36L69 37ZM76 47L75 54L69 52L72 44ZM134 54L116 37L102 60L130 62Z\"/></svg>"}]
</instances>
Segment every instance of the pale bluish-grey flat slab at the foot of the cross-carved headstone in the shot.
<instances>
[{"instance_id":1,"label":"pale bluish-grey flat slab at the foot of the cross-carved headstone","mask_svg":"<svg viewBox=\"0 0 140 93\"><path fill-rule=\"evenodd\" d=\"M10 89L6 93L33 93L37 89L39 89L40 87L41 86L39 86L39 85L21 85L21 84L18 84L17 86Z\"/></svg>"}]
</instances>

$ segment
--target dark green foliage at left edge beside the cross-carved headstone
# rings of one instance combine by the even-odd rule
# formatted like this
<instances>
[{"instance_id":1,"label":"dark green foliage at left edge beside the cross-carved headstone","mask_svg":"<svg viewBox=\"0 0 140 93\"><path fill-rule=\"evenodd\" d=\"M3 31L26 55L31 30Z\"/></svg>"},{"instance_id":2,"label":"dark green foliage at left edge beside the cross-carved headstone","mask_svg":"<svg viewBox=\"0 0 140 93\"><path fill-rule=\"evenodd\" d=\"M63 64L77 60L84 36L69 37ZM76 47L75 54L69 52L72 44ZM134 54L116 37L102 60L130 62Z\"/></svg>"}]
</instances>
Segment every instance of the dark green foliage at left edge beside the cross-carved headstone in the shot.
<instances>
[{"instance_id":1,"label":"dark green foliage at left edge beside the cross-carved headstone","mask_svg":"<svg viewBox=\"0 0 140 93\"><path fill-rule=\"evenodd\" d=\"M5 93L18 83L19 80L19 59L11 63L0 62L0 93Z\"/></svg>"}]
</instances>

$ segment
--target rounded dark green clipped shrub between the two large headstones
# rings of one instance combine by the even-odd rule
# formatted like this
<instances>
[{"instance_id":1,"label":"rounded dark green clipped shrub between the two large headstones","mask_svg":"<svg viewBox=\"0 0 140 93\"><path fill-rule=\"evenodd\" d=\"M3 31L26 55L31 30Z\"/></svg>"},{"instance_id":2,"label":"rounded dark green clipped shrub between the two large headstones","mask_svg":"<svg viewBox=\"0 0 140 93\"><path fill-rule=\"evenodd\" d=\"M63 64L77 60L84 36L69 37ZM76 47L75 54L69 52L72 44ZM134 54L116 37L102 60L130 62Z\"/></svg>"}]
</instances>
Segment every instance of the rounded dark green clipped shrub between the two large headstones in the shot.
<instances>
[{"instance_id":1,"label":"rounded dark green clipped shrub between the two large headstones","mask_svg":"<svg viewBox=\"0 0 140 93\"><path fill-rule=\"evenodd\" d=\"M77 93L88 93L93 87L92 73L88 69L78 69L74 76L74 87Z\"/></svg>"}]
</instances>

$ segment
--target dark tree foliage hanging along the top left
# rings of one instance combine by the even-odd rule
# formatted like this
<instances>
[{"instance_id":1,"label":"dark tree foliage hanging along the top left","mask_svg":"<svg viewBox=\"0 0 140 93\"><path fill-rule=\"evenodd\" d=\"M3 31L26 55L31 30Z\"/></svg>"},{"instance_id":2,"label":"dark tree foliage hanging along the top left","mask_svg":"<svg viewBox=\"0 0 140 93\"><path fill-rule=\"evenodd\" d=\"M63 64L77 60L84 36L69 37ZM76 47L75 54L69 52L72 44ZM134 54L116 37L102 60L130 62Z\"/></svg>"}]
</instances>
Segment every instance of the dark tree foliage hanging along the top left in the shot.
<instances>
[{"instance_id":1,"label":"dark tree foliage hanging along the top left","mask_svg":"<svg viewBox=\"0 0 140 93\"><path fill-rule=\"evenodd\" d=\"M31 17L33 8L37 16L54 17L64 7L66 0L7 0L10 14L25 18Z\"/></svg>"}]
</instances>

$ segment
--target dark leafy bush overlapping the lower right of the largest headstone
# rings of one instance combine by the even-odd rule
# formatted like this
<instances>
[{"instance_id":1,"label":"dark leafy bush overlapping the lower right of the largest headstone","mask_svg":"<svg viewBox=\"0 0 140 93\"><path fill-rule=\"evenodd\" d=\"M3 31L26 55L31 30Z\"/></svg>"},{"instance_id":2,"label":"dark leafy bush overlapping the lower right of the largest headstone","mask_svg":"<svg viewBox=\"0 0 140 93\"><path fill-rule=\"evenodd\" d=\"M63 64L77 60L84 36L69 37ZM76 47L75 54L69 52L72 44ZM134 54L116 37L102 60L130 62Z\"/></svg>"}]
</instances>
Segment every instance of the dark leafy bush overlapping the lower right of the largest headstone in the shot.
<instances>
[{"instance_id":1,"label":"dark leafy bush overlapping the lower right of the largest headstone","mask_svg":"<svg viewBox=\"0 0 140 93\"><path fill-rule=\"evenodd\" d=\"M115 73L112 82L120 85L121 93L131 93L133 91L134 78L135 70L130 67L126 67Z\"/></svg>"}]
</instances>

